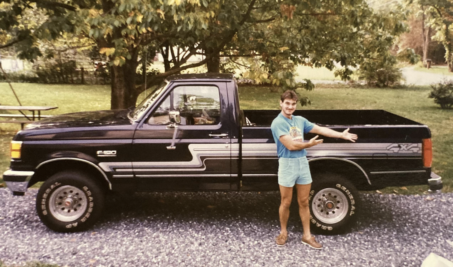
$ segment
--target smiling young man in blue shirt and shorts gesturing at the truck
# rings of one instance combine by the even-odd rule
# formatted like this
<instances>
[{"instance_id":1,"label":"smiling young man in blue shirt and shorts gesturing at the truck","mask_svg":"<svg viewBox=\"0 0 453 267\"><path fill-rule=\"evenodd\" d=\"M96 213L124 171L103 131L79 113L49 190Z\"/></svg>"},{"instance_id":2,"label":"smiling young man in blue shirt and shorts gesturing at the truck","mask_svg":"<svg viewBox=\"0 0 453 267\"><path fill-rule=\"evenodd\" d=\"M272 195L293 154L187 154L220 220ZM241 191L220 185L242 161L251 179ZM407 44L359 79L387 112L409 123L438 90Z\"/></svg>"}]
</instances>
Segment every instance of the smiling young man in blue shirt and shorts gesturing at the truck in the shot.
<instances>
[{"instance_id":1,"label":"smiling young man in blue shirt and shorts gesturing at the truck","mask_svg":"<svg viewBox=\"0 0 453 267\"><path fill-rule=\"evenodd\" d=\"M323 246L316 242L310 233L310 210L308 208L308 194L312 183L308 168L306 148L321 144L322 139L315 136L309 142L304 142L304 133L315 133L327 137L342 138L355 142L357 135L349 133L349 128L343 132L333 131L309 122L301 116L293 116L296 110L297 95L293 91L286 91L280 96L282 111L272 125L272 135L277 144L279 155L279 185L281 203L279 209L281 231L275 239L277 246L284 246L288 240L286 225L289 217L289 205L293 196L293 187L296 186L299 215L302 220L304 234L302 243L312 248L321 249Z\"/></svg>"}]
</instances>

